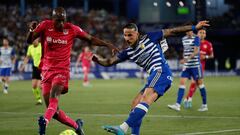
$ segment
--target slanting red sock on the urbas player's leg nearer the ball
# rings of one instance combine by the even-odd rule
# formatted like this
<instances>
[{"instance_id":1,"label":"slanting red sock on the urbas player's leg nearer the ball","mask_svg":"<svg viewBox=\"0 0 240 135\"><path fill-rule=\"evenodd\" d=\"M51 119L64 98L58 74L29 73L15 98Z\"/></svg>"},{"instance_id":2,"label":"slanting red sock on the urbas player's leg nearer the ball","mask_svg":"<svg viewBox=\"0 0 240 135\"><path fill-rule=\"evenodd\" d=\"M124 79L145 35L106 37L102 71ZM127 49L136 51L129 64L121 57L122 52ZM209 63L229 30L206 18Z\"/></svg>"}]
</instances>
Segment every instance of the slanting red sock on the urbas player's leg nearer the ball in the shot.
<instances>
[{"instance_id":1,"label":"slanting red sock on the urbas player's leg nearer the ball","mask_svg":"<svg viewBox=\"0 0 240 135\"><path fill-rule=\"evenodd\" d=\"M78 128L77 123L74 120L72 120L70 117L68 117L62 110L59 110L58 112L56 112L53 118L74 129Z\"/></svg>"}]
</instances>

